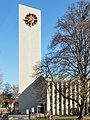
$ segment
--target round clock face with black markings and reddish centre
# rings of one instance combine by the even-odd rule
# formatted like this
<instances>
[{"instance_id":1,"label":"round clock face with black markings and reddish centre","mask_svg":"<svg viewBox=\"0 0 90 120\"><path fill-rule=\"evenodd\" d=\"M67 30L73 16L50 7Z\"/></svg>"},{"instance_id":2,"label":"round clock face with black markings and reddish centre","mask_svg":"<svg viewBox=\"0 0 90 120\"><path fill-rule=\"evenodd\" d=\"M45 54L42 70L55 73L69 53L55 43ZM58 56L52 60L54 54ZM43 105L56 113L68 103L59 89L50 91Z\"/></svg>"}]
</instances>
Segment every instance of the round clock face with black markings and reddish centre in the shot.
<instances>
[{"instance_id":1,"label":"round clock face with black markings and reddish centre","mask_svg":"<svg viewBox=\"0 0 90 120\"><path fill-rule=\"evenodd\" d=\"M36 23L38 21L37 16L34 15L33 13L27 14L23 20L24 20L25 24L30 27L36 25Z\"/></svg>"}]
</instances>

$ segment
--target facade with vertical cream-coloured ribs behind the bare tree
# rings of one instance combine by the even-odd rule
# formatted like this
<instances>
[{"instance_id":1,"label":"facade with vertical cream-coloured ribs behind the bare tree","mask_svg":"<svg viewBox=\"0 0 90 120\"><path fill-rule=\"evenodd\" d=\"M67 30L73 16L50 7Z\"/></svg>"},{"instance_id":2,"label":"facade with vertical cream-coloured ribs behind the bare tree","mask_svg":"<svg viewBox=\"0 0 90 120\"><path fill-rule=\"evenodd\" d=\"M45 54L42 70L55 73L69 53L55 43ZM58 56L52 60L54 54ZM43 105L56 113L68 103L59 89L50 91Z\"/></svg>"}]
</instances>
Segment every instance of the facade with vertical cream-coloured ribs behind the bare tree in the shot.
<instances>
[{"instance_id":1,"label":"facade with vertical cream-coloured ribs behind the bare tree","mask_svg":"<svg viewBox=\"0 0 90 120\"><path fill-rule=\"evenodd\" d=\"M56 85L53 82L47 84L47 111L50 111L53 115L78 115L79 106L76 102L65 99L58 90L62 91L66 97L74 98L81 103L80 83L68 81L57 82ZM88 86L90 86L90 82L88 82ZM86 101L86 107L90 112L90 91L87 93Z\"/></svg>"}]
</instances>

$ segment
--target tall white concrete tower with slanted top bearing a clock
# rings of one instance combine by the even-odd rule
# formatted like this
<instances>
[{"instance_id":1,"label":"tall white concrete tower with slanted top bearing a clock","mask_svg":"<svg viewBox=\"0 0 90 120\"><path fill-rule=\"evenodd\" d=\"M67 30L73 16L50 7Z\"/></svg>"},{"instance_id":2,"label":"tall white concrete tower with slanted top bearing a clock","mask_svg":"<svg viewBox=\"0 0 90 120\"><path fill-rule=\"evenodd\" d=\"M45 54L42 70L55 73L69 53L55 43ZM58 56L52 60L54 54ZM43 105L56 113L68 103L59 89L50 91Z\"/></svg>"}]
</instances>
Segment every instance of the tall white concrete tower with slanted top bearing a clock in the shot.
<instances>
[{"instance_id":1,"label":"tall white concrete tower with slanted top bearing a clock","mask_svg":"<svg viewBox=\"0 0 90 120\"><path fill-rule=\"evenodd\" d=\"M19 4L19 93L34 81L33 67L41 61L41 11Z\"/></svg>"}]
</instances>

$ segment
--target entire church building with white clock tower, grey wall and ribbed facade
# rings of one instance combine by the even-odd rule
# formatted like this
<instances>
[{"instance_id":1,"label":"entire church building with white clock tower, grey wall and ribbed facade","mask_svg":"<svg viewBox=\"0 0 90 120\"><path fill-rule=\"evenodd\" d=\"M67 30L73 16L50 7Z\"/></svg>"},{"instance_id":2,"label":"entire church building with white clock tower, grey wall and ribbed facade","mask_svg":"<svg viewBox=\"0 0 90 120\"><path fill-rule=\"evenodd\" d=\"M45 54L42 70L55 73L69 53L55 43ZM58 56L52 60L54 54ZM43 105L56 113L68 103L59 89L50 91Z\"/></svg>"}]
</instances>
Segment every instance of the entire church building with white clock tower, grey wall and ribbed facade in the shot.
<instances>
[{"instance_id":1,"label":"entire church building with white clock tower, grey wall and ribbed facade","mask_svg":"<svg viewBox=\"0 0 90 120\"><path fill-rule=\"evenodd\" d=\"M33 67L41 61L41 11L19 5L19 110L25 113L27 109L41 106L41 112L51 112L53 115L72 115L79 111L77 104L57 92L62 90L66 96L80 100L80 86L76 83L58 82L56 88L52 82L43 77L33 76ZM90 83L88 83L90 86ZM70 86L66 88L66 86ZM89 93L90 94L90 93ZM90 107L90 97L87 97ZM76 111L75 111L76 110Z\"/></svg>"}]
</instances>

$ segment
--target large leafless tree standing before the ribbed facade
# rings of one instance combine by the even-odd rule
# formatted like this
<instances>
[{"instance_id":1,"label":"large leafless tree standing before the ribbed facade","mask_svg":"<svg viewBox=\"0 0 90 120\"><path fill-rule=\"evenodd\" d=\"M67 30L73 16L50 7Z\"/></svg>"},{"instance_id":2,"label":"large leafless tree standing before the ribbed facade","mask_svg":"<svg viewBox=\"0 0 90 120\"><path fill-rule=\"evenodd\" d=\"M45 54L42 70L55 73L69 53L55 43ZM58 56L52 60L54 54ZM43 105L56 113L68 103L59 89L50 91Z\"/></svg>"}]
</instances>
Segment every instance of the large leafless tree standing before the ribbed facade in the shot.
<instances>
[{"instance_id":1,"label":"large leafless tree standing before the ribbed facade","mask_svg":"<svg viewBox=\"0 0 90 120\"><path fill-rule=\"evenodd\" d=\"M88 8L88 9L87 9ZM65 96L62 89L57 91L80 107L79 120L87 114L87 97L90 95L90 3L79 1L72 4L62 18L58 18L58 32L50 44L49 57L36 66L36 74L42 74L54 82L55 75L71 76L79 82L80 100ZM55 83L55 82L54 82ZM89 85L88 85L89 84Z\"/></svg>"}]
</instances>

